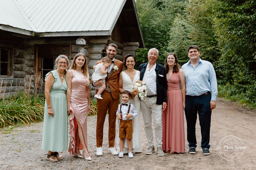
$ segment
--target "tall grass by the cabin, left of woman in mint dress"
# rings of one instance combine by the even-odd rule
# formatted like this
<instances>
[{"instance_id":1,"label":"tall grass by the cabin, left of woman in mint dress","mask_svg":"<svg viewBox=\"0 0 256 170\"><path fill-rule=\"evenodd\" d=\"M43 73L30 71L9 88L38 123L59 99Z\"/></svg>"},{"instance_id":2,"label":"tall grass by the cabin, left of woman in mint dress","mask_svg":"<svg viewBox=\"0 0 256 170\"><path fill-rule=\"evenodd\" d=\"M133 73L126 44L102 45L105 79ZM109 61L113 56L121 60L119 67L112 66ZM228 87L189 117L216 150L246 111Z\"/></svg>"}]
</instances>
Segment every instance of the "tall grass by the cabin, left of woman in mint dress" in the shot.
<instances>
[{"instance_id":1,"label":"tall grass by the cabin, left of woman in mint dress","mask_svg":"<svg viewBox=\"0 0 256 170\"><path fill-rule=\"evenodd\" d=\"M7 86L7 82L8 80L3 79L0 81L0 127L42 121L44 118L44 98L36 95L37 86L31 94L32 76L25 78L24 91L19 91L19 88L15 87L15 92L12 92L13 80L9 82L11 86ZM18 84L17 87L20 85ZM10 90L6 92L8 88Z\"/></svg>"}]
</instances>

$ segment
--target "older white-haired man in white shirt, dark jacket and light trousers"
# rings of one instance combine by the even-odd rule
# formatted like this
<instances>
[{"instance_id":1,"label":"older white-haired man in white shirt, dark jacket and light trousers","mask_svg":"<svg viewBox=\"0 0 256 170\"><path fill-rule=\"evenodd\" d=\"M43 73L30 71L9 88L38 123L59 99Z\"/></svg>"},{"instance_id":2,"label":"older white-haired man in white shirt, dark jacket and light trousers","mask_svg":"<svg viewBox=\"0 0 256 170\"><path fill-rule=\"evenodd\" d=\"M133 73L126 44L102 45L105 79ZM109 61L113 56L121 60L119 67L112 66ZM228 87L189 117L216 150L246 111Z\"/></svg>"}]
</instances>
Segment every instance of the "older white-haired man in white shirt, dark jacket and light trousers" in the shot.
<instances>
[{"instance_id":1,"label":"older white-haired man in white shirt, dark jacket and light trousers","mask_svg":"<svg viewBox=\"0 0 256 170\"><path fill-rule=\"evenodd\" d=\"M162 111L166 109L167 80L164 66L158 64L158 50L152 48L147 54L149 62L139 67L140 80L147 83L146 102L140 101L142 116L145 124L145 133L149 148L147 155L154 152L152 117L154 122L157 155L164 156L162 150Z\"/></svg>"}]
</instances>

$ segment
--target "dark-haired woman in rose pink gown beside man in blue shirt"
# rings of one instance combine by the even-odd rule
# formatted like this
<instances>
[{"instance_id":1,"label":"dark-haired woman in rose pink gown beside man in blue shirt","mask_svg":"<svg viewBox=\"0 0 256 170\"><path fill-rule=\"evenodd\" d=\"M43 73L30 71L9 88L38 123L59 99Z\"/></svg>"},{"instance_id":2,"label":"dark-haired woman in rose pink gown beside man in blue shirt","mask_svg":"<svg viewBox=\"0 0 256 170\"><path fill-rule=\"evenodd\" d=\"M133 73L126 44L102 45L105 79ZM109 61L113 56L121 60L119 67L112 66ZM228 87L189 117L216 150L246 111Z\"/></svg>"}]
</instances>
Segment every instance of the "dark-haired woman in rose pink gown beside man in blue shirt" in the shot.
<instances>
[{"instance_id":1,"label":"dark-haired woman in rose pink gown beside man in blue shirt","mask_svg":"<svg viewBox=\"0 0 256 170\"><path fill-rule=\"evenodd\" d=\"M185 75L178 64L175 53L167 54L165 60L167 73L167 108L162 114L162 148L165 152L184 153L184 116L185 109ZM182 90L180 90L180 84Z\"/></svg>"}]
</instances>

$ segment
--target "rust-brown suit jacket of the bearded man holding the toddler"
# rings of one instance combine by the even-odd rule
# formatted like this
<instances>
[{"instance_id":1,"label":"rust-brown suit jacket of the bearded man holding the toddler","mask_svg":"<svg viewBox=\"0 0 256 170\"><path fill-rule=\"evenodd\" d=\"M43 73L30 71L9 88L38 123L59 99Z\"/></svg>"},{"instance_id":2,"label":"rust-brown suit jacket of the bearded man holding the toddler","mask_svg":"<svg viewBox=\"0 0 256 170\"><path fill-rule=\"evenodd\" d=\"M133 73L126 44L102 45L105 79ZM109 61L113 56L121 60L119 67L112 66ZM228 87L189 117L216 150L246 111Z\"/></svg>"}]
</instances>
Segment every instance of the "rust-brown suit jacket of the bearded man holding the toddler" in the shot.
<instances>
[{"instance_id":1,"label":"rust-brown suit jacket of the bearded man holding the toddler","mask_svg":"<svg viewBox=\"0 0 256 170\"><path fill-rule=\"evenodd\" d=\"M101 63L102 61L98 61L96 64L99 64ZM106 86L107 86L107 83L109 83L109 87L110 87L110 91L111 91L111 95L114 99L119 99L119 86L118 86L118 77L119 77L119 74L122 72L122 61L119 61L115 58L115 62L114 62L114 65L117 65L118 67L118 71L115 71L113 70L113 67L110 71L110 73L107 74L107 77L106 77ZM113 65L113 66L114 66Z\"/></svg>"}]
</instances>

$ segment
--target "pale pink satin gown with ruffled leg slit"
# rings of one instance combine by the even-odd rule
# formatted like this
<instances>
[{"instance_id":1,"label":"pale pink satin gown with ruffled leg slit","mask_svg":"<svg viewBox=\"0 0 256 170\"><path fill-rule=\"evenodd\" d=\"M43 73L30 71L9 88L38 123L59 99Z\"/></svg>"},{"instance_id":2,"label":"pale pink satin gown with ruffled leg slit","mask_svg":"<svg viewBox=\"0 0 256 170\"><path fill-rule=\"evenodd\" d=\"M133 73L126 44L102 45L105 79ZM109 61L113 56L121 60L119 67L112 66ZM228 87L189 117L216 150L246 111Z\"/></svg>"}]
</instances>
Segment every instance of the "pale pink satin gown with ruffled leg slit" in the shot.
<instances>
[{"instance_id":1,"label":"pale pink satin gown with ruffled leg slit","mask_svg":"<svg viewBox=\"0 0 256 170\"><path fill-rule=\"evenodd\" d=\"M83 73L79 73L75 70L71 70L73 72L72 82L71 82L71 97L70 97L70 110L72 113L69 117L70 122L70 143L69 143L69 152L70 155L74 155L75 153L75 144L76 144L76 133L77 131L77 120L80 122L83 134L84 141L86 147L87 145L87 112L88 112L88 95L85 91L85 87L87 84L87 79L84 77ZM83 149L82 144L80 142L79 149ZM88 147L87 147L88 150ZM89 152L89 151L88 151Z\"/></svg>"}]
</instances>

